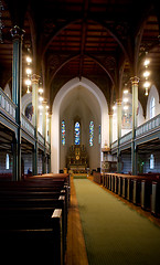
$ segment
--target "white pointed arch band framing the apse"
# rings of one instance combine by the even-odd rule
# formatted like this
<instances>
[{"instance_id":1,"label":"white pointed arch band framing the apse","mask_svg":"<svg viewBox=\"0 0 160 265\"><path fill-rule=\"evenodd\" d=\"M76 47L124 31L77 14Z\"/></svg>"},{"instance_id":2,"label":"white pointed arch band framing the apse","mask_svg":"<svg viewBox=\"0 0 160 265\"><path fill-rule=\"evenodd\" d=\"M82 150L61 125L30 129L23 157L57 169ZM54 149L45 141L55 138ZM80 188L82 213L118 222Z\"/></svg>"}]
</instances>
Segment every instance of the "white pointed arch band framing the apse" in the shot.
<instances>
[{"instance_id":1,"label":"white pointed arch band framing the apse","mask_svg":"<svg viewBox=\"0 0 160 265\"><path fill-rule=\"evenodd\" d=\"M109 117L107 100L99 89L92 81L82 77L75 77L68 81L55 96L52 106L52 127L51 127L51 171L57 173L60 170L60 109L61 104L68 92L82 85L88 89L98 100L102 112L102 147L107 142L109 145Z\"/></svg>"}]
</instances>

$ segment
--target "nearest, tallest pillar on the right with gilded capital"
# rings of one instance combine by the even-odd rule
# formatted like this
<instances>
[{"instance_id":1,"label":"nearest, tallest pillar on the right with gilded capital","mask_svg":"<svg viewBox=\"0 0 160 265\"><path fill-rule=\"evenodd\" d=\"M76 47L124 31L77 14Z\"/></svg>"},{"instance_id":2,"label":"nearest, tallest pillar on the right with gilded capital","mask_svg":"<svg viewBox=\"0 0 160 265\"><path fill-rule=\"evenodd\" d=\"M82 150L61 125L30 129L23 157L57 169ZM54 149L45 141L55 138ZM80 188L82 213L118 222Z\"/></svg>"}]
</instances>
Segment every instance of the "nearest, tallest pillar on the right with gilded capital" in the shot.
<instances>
[{"instance_id":1,"label":"nearest, tallest pillar on the right with gilded capital","mask_svg":"<svg viewBox=\"0 0 160 265\"><path fill-rule=\"evenodd\" d=\"M137 150L136 150L136 128L138 117L138 83L137 76L131 77L131 89L132 89L132 137L131 137L131 170L132 174L137 174Z\"/></svg>"}]
</instances>

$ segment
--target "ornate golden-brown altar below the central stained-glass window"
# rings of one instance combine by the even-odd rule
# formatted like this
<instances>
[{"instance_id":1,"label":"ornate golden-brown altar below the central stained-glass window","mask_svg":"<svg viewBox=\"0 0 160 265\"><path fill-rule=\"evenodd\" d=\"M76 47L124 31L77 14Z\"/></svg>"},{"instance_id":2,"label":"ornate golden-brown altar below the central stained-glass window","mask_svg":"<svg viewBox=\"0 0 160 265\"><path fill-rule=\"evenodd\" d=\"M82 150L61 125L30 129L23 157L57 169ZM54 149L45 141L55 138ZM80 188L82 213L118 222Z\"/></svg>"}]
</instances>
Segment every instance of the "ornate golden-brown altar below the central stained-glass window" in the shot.
<instances>
[{"instance_id":1,"label":"ornate golden-brown altar below the central stained-glass window","mask_svg":"<svg viewBox=\"0 0 160 265\"><path fill-rule=\"evenodd\" d=\"M84 145L72 145L67 156L67 169L73 173L87 173L88 158Z\"/></svg>"}]
</instances>

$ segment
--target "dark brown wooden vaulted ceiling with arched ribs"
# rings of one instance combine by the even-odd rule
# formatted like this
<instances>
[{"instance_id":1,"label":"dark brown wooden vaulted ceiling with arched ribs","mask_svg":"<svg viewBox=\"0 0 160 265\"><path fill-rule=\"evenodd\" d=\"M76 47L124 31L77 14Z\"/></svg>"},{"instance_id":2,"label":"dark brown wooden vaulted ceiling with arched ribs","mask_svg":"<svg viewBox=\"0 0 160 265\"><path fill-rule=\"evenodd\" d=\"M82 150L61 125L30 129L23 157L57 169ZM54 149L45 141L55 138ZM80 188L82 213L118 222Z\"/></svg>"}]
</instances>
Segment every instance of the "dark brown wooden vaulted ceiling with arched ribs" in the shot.
<instances>
[{"instance_id":1,"label":"dark brown wooden vaulted ceiling with arched ribs","mask_svg":"<svg viewBox=\"0 0 160 265\"><path fill-rule=\"evenodd\" d=\"M51 104L65 82L87 77L103 91L108 104L120 97L125 83L138 75L139 99L145 108L142 62L150 59L151 81L160 92L158 1L138 0L2 0L0 86L12 78L12 38L25 31L24 56L33 55L33 71L41 75ZM24 74L24 71L23 71ZM23 84L23 93L26 88Z\"/></svg>"}]
</instances>

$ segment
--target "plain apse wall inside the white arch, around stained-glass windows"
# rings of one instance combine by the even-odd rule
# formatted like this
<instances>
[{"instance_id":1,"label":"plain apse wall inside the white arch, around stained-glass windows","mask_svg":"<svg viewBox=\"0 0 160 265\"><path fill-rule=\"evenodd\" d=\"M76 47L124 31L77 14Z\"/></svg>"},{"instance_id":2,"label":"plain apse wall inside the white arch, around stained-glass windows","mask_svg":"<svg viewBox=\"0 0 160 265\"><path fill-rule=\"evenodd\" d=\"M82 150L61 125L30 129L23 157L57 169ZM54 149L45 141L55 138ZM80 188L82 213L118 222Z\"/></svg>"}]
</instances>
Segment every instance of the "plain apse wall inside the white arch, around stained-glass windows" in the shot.
<instances>
[{"instance_id":1,"label":"plain apse wall inside the white arch, around stained-glass windows","mask_svg":"<svg viewBox=\"0 0 160 265\"><path fill-rule=\"evenodd\" d=\"M100 167L100 145L98 142L99 125L102 124L100 106L93 93L84 86L73 88L63 98L60 109L60 121L65 120L66 125L66 144L60 142L60 168L66 167L66 156L71 145L74 145L74 121L81 121L81 145L86 147L89 158L89 168L97 169ZM94 121L94 146L89 146L89 121ZM60 139L61 126L60 126Z\"/></svg>"}]
</instances>

